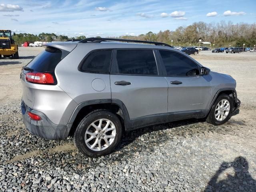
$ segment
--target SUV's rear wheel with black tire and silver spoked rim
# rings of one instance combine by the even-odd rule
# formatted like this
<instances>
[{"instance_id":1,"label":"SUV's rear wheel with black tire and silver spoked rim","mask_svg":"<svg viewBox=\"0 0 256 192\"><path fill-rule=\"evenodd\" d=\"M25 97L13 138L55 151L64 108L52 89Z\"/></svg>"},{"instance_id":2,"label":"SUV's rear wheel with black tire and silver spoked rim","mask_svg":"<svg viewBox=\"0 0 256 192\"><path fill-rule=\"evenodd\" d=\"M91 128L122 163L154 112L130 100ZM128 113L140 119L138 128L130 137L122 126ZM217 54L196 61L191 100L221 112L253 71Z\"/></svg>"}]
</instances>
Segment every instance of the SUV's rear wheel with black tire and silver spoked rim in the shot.
<instances>
[{"instance_id":1,"label":"SUV's rear wheel with black tire and silver spoked rim","mask_svg":"<svg viewBox=\"0 0 256 192\"><path fill-rule=\"evenodd\" d=\"M119 118L108 110L95 110L79 123L74 133L74 143L84 155L99 157L111 153L121 136Z\"/></svg>"}]
</instances>

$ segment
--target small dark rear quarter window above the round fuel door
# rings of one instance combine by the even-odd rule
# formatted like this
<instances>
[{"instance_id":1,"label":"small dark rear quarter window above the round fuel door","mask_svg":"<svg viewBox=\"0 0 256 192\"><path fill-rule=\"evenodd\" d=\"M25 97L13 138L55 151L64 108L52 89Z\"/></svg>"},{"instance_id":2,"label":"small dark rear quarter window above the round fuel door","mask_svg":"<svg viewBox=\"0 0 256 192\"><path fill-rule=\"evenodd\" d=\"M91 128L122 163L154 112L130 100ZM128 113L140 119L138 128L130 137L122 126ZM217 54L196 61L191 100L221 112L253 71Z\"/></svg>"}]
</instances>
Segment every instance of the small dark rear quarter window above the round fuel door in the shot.
<instances>
[{"instance_id":1,"label":"small dark rear quarter window above the round fuel door","mask_svg":"<svg viewBox=\"0 0 256 192\"><path fill-rule=\"evenodd\" d=\"M99 50L90 53L84 60L81 71L109 73L112 50Z\"/></svg>"}]
</instances>

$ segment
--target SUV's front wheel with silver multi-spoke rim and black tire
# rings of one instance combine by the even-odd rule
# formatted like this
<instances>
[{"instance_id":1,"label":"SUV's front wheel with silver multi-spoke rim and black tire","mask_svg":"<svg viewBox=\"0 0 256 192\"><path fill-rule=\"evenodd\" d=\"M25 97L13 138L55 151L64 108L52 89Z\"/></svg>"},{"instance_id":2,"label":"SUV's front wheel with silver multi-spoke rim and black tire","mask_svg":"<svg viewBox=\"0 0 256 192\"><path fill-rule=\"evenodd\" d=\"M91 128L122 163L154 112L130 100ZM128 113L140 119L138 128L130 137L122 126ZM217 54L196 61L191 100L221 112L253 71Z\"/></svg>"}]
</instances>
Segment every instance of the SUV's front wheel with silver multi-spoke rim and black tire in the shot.
<instances>
[{"instance_id":1,"label":"SUV's front wheel with silver multi-spoke rim and black tire","mask_svg":"<svg viewBox=\"0 0 256 192\"><path fill-rule=\"evenodd\" d=\"M232 109L233 98L227 94L221 94L212 105L206 121L213 125L222 125L230 119Z\"/></svg>"}]
</instances>

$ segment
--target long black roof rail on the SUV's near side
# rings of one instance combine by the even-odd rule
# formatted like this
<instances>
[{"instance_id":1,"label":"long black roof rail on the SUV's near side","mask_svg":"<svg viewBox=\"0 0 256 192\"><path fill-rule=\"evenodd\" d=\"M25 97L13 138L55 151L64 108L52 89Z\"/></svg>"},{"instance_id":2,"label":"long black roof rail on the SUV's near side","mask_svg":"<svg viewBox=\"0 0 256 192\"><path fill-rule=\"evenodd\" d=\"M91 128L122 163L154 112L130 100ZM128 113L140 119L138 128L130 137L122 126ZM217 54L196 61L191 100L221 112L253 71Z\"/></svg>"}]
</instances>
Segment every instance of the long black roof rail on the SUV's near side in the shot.
<instances>
[{"instance_id":1,"label":"long black roof rail on the SUV's near side","mask_svg":"<svg viewBox=\"0 0 256 192\"><path fill-rule=\"evenodd\" d=\"M153 42L153 41L141 41L141 40L130 40L130 39L114 39L114 38L87 38L79 41L79 43L88 43L88 42L102 42L102 41L120 41L120 42L134 42L134 43L148 43L148 44L155 44L155 45L162 45L172 47L166 43L160 42Z\"/></svg>"}]
</instances>

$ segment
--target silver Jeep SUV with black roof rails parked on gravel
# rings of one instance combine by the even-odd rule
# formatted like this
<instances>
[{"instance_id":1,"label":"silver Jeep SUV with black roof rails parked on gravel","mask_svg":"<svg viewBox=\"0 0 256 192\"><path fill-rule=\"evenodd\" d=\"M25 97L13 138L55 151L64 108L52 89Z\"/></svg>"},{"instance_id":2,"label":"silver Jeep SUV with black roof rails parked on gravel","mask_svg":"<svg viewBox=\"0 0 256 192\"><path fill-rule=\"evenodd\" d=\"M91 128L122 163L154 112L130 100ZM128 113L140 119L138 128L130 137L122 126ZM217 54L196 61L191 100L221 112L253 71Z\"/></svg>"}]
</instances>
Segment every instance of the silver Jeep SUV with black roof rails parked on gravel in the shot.
<instances>
[{"instance_id":1,"label":"silver Jeep SUV with black roof rails parked on gravel","mask_svg":"<svg viewBox=\"0 0 256 192\"><path fill-rule=\"evenodd\" d=\"M112 152L124 131L187 118L220 125L240 106L231 76L168 44L88 38L44 47L20 74L23 121L45 139L73 135L87 156Z\"/></svg>"}]
</instances>

